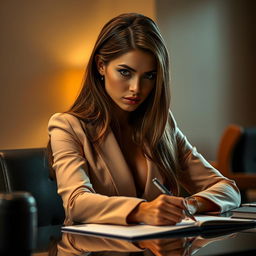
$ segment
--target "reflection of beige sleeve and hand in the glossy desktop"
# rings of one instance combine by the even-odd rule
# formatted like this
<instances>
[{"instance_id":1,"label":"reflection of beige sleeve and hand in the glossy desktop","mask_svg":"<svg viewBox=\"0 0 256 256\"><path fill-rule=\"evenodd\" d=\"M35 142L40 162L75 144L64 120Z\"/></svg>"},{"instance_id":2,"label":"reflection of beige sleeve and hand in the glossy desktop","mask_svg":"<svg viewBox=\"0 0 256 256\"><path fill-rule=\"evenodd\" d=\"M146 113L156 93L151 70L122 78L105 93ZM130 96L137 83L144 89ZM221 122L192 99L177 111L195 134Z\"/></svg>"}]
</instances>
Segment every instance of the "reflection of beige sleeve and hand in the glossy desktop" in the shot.
<instances>
[{"instance_id":1,"label":"reflection of beige sleeve and hand in the glossy desktop","mask_svg":"<svg viewBox=\"0 0 256 256\"><path fill-rule=\"evenodd\" d=\"M200 248L217 240L235 236L234 234L214 238L183 237L128 242L123 240L63 233L57 244L57 251L50 256L87 256L87 255L145 255L145 256L188 256Z\"/></svg>"}]
</instances>

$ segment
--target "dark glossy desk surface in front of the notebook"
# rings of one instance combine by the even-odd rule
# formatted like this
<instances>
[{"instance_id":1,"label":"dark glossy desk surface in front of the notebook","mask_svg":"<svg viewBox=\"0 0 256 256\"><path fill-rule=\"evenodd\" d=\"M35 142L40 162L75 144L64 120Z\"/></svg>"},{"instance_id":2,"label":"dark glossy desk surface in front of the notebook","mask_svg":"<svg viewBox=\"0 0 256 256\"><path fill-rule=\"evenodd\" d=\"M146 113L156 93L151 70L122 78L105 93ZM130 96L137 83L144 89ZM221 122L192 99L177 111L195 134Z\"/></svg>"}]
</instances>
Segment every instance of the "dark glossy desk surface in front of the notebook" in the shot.
<instances>
[{"instance_id":1,"label":"dark glossy desk surface in front of the notebook","mask_svg":"<svg viewBox=\"0 0 256 256\"><path fill-rule=\"evenodd\" d=\"M148 249L142 250L140 248ZM153 253L153 252L154 253ZM256 255L256 229L211 238L164 238L130 243L93 236L62 234L60 226L41 227L33 256L85 255Z\"/></svg>"}]
</instances>

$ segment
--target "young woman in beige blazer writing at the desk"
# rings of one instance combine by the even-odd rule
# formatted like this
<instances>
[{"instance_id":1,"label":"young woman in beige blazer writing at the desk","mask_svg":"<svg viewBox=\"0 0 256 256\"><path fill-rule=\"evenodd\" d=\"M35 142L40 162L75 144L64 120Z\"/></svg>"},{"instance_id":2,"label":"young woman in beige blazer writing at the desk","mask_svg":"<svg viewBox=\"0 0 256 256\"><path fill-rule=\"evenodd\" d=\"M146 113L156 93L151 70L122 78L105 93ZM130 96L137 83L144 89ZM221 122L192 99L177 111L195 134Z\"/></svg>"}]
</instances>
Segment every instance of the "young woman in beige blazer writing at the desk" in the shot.
<instances>
[{"instance_id":1,"label":"young woman in beige blazer writing at the desk","mask_svg":"<svg viewBox=\"0 0 256 256\"><path fill-rule=\"evenodd\" d=\"M83 88L49 121L65 224L175 224L240 204L235 183L188 142L170 112L169 57L157 25L122 14L101 30ZM161 194L157 178L172 196Z\"/></svg>"}]
</instances>

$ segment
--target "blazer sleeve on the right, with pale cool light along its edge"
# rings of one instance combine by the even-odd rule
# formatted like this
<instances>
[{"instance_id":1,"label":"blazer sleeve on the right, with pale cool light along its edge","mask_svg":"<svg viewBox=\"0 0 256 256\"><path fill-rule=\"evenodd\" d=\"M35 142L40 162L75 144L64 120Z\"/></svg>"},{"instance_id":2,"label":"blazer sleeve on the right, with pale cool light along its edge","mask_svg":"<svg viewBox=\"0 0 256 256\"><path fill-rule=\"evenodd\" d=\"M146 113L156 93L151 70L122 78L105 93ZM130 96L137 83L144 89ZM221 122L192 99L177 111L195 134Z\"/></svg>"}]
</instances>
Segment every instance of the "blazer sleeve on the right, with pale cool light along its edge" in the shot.
<instances>
[{"instance_id":1,"label":"blazer sleeve on the right, with pale cool light along its edge","mask_svg":"<svg viewBox=\"0 0 256 256\"><path fill-rule=\"evenodd\" d=\"M220 212L236 208L241 203L235 182L224 177L197 152L173 120L181 170L180 184L192 195L217 204Z\"/></svg>"}]
</instances>

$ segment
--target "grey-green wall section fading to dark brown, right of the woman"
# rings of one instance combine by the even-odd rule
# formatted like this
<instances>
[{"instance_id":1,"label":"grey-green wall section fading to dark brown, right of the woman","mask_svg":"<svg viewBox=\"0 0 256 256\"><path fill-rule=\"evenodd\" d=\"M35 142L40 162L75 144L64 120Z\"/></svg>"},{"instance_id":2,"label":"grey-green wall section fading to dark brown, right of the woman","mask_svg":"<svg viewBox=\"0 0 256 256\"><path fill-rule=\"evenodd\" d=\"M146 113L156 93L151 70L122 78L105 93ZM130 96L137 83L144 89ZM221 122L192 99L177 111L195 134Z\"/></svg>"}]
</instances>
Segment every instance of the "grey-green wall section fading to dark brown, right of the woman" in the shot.
<instances>
[{"instance_id":1,"label":"grey-green wall section fading to dark brown, right of the woman","mask_svg":"<svg viewBox=\"0 0 256 256\"><path fill-rule=\"evenodd\" d=\"M215 159L230 123L256 125L256 1L158 0L172 63L172 110L182 131Z\"/></svg>"}]
</instances>

